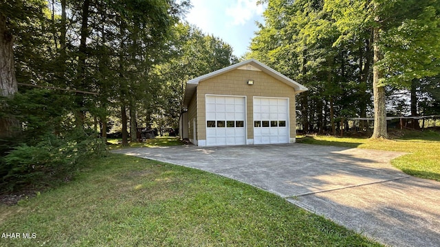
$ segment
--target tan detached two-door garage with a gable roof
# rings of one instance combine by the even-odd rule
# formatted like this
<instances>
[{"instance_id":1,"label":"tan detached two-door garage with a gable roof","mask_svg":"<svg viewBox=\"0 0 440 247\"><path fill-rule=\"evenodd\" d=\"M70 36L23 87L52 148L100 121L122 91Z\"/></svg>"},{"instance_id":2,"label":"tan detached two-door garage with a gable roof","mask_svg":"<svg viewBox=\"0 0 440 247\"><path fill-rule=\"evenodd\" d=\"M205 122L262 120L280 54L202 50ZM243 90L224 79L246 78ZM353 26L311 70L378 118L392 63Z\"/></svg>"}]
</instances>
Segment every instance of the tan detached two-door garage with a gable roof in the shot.
<instances>
[{"instance_id":1,"label":"tan detached two-door garage with a gable roof","mask_svg":"<svg viewBox=\"0 0 440 247\"><path fill-rule=\"evenodd\" d=\"M186 84L181 138L199 146L293 143L295 95L307 88L250 59Z\"/></svg>"}]
</instances>

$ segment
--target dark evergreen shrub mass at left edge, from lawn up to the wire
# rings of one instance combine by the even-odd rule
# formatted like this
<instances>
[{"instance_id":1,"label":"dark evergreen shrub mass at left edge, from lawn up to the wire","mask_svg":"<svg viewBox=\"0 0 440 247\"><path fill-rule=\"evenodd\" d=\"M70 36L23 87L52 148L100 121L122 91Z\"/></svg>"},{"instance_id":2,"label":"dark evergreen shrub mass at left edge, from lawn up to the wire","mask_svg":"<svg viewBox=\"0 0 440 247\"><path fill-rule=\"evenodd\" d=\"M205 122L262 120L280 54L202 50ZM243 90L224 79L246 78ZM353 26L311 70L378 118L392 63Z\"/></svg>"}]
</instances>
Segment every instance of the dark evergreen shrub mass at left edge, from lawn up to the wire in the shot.
<instances>
[{"instance_id":1,"label":"dark evergreen shrub mass at left edge, from lawn up to the wire","mask_svg":"<svg viewBox=\"0 0 440 247\"><path fill-rule=\"evenodd\" d=\"M40 89L3 98L3 117L19 120L22 129L0 142L0 192L59 183L72 176L79 161L105 154L97 133L72 125L71 100Z\"/></svg>"}]
</instances>

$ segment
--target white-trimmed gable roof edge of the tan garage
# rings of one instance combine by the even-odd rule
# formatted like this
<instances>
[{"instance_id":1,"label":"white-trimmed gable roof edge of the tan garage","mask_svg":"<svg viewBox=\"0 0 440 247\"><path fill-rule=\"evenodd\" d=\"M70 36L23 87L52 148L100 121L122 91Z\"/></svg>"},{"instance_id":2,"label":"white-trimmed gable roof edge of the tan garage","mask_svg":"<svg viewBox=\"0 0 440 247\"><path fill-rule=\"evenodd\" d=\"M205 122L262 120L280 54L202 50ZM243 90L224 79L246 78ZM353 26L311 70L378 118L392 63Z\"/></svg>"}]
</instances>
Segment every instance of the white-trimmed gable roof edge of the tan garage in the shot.
<instances>
[{"instance_id":1,"label":"white-trimmed gable roof edge of the tan garage","mask_svg":"<svg viewBox=\"0 0 440 247\"><path fill-rule=\"evenodd\" d=\"M295 89L296 93L302 93L304 91L309 90L305 86L299 84L298 82L295 82L294 80L292 80L290 78L287 78L287 76L283 75L282 73L279 73L278 71L275 71L274 69L267 67L267 65L262 64L261 62L252 58L249 60L245 60L243 62L232 64L232 65L225 67L223 69L219 69L218 71L207 73L206 75L201 75L198 78L194 78L194 79L186 82L186 89L185 89L185 95L184 95L184 106L188 106L188 104L190 103L191 97L195 93L195 89L197 88L197 85L199 85L199 82L201 82L203 80L208 80L208 79L213 78L217 75L221 75L223 73L232 71L234 69L239 69L239 68L246 66L248 64L252 65L256 69L259 69L259 70L267 73L268 75L271 75L273 78L275 78L281 82L284 82L285 84L287 84L289 86L292 86Z\"/></svg>"}]
</instances>

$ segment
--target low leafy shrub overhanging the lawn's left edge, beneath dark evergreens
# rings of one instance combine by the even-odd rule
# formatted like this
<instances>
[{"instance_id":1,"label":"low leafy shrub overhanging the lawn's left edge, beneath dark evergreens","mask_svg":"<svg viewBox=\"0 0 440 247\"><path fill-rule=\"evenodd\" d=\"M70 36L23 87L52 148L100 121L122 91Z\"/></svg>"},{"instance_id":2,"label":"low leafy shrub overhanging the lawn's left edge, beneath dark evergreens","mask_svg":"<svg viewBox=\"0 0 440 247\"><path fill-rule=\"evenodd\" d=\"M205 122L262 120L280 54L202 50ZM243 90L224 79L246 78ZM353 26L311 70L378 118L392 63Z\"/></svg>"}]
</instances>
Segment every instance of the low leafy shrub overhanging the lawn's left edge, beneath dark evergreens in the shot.
<instances>
[{"instance_id":1,"label":"low leafy shrub overhanging the lawn's left edge, beneath dark evergreens","mask_svg":"<svg viewBox=\"0 0 440 247\"><path fill-rule=\"evenodd\" d=\"M1 192L41 188L69 180L78 163L106 153L101 139L86 134L47 134L30 146L21 144L0 160Z\"/></svg>"}]
</instances>

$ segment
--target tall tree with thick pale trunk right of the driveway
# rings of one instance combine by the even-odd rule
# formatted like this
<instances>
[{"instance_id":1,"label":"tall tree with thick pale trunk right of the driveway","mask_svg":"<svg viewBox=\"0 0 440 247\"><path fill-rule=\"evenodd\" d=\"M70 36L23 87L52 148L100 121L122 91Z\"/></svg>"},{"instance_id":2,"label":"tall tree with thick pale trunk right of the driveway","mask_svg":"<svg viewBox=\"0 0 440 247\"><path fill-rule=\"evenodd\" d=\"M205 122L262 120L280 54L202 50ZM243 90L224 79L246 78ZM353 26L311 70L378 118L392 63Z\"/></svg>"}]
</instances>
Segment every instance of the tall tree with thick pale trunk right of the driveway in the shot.
<instances>
[{"instance_id":1,"label":"tall tree with thick pale trunk right of the driveway","mask_svg":"<svg viewBox=\"0 0 440 247\"><path fill-rule=\"evenodd\" d=\"M439 56L439 10L436 0L325 1L347 40L362 30L373 36L375 127L372 138L387 138L385 86L409 86L414 78L435 75Z\"/></svg>"}]
</instances>

